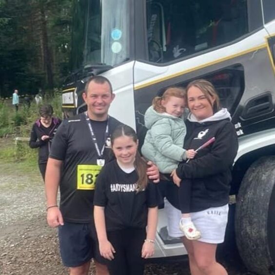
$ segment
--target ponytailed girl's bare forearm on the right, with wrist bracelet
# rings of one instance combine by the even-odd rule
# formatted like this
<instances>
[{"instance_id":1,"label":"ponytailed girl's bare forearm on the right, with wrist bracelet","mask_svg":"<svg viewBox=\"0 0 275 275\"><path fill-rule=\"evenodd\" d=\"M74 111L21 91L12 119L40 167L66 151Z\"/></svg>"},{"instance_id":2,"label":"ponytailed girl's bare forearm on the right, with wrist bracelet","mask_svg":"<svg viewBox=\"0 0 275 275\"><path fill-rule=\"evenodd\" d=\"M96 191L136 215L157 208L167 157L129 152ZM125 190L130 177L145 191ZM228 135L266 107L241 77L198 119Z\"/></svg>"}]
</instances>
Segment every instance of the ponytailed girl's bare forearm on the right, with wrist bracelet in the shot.
<instances>
[{"instance_id":1,"label":"ponytailed girl's bare forearm on the right, with wrist bracelet","mask_svg":"<svg viewBox=\"0 0 275 275\"><path fill-rule=\"evenodd\" d=\"M157 212L158 208L148 208L147 217L147 235L144 240L144 244L141 250L141 256L143 258L149 258L154 255L155 252L155 236L157 230Z\"/></svg>"}]
</instances>

